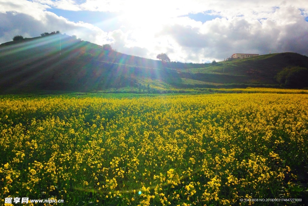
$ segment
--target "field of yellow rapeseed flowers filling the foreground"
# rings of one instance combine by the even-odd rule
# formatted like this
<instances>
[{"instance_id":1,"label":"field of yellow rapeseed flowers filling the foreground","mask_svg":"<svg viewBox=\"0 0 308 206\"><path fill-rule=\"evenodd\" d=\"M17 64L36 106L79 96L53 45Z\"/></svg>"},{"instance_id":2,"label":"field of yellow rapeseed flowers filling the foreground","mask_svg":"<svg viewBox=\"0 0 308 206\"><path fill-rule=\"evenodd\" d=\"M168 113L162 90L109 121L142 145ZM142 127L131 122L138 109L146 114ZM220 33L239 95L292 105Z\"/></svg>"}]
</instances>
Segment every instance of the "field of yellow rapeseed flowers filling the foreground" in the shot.
<instances>
[{"instance_id":1,"label":"field of yellow rapeseed flowers filling the foreground","mask_svg":"<svg viewBox=\"0 0 308 206\"><path fill-rule=\"evenodd\" d=\"M305 205L307 108L307 94L2 97L0 201Z\"/></svg>"}]
</instances>

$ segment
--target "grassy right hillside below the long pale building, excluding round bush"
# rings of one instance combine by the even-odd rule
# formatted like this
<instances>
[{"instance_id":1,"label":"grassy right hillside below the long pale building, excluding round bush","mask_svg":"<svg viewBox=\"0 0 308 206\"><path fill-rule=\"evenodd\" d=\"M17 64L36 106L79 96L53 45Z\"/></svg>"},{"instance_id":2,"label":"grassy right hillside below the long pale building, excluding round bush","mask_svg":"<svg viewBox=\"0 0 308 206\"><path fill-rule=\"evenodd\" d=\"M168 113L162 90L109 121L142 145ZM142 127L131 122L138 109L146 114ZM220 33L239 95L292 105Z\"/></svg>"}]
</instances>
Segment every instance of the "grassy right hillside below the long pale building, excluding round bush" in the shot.
<instances>
[{"instance_id":1,"label":"grassy right hillside below the long pale building, excluding round bush","mask_svg":"<svg viewBox=\"0 0 308 206\"><path fill-rule=\"evenodd\" d=\"M308 68L308 57L298 53L275 53L246 59L218 62L204 68L187 69L186 78L205 84L277 85L275 75L287 66ZM200 82L199 82L200 84ZM236 86L235 86L236 87Z\"/></svg>"}]
</instances>

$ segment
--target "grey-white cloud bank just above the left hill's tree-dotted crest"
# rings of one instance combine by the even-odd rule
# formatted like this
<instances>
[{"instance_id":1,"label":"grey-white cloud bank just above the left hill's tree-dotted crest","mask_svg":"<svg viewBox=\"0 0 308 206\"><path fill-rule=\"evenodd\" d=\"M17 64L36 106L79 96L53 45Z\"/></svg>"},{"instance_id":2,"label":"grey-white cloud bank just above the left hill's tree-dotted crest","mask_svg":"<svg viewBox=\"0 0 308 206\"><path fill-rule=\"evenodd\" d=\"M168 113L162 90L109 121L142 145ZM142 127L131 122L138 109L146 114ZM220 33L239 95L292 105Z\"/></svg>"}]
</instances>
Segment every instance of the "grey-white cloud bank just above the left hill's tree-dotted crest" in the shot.
<instances>
[{"instance_id":1,"label":"grey-white cloud bank just above the left hill's tree-dotted crest","mask_svg":"<svg viewBox=\"0 0 308 206\"><path fill-rule=\"evenodd\" d=\"M11 41L15 35L36 37L44 32L61 31L102 45L107 43L107 33L84 22L71 22L46 11L48 6L36 2L15 0L14 3L0 1L0 42Z\"/></svg>"}]
</instances>

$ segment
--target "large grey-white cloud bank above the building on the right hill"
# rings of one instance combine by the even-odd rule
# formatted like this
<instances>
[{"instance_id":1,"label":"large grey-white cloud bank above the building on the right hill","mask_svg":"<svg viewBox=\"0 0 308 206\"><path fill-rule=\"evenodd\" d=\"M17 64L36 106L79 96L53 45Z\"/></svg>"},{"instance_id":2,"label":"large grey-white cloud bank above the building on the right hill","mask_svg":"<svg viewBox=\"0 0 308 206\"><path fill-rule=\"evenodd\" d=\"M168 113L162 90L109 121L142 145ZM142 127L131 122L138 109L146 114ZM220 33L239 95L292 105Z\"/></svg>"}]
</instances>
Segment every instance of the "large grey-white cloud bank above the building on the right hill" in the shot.
<instances>
[{"instance_id":1,"label":"large grey-white cloud bank above the building on the right hill","mask_svg":"<svg viewBox=\"0 0 308 206\"><path fill-rule=\"evenodd\" d=\"M232 53L290 51L308 54L308 22L294 7L277 8L262 21L233 17L193 24L181 20L165 26L159 36L174 39L175 44L186 52L174 51L170 56L188 53L186 61L223 60Z\"/></svg>"}]
</instances>

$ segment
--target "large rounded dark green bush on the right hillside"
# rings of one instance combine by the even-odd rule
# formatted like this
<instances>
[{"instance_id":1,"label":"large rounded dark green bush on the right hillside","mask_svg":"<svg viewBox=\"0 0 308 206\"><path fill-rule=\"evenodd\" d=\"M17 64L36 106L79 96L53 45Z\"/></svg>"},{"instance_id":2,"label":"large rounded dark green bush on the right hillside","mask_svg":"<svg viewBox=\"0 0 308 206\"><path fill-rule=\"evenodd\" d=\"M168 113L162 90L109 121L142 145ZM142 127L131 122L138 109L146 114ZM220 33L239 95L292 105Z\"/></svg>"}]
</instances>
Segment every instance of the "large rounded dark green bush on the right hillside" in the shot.
<instances>
[{"instance_id":1,"label":"large rounded dark green bush on the right hillside","mask_svg":"<svg viewBox=\"0 0 308 206\"><path fill-rule=\"evenodd\" d=\"M276 80L285 87L304 88L308 86L308 69L298 66L284 68L276 75Z\"/></svg>"}]
</instances>

